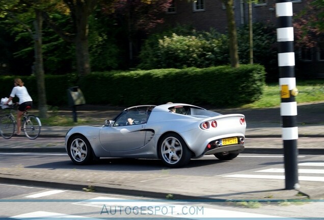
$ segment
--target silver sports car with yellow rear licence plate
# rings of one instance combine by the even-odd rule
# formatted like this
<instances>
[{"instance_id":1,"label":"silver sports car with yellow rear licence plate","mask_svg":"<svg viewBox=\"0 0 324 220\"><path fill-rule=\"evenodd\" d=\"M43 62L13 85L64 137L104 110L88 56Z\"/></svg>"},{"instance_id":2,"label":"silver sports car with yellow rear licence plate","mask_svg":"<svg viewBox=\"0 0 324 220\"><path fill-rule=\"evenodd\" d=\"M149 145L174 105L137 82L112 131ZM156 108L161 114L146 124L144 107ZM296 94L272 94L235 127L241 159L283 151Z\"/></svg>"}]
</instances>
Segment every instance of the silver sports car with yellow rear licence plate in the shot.
<instances>
[{"instance_id":1,"label":"silver sports car with yellow rear licence plate","mask_svg":"<svg viewBox=\"0 0 324 220\"><path fill-rule=\"evenodd\" d=\"M101 127L71 128L65 148L75 164L100 157L155 158L175 168L204 155L235 158L244 150L245 130L241 114L222 115L183 103L139 105Z\"/></svg>"}]
</instances>

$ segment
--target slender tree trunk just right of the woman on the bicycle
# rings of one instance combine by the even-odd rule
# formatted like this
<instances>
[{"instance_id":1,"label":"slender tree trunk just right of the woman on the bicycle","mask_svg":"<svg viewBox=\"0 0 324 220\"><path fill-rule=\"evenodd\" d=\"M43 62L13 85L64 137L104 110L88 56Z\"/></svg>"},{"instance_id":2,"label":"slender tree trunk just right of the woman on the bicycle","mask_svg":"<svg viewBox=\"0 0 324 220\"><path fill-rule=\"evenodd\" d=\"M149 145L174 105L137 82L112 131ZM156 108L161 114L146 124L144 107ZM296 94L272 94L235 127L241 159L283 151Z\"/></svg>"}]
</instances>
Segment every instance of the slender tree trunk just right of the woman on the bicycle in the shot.
<instances>
[{"instance_id":1,"label":"slender tree trunk just right of the woman on the bicycle","mask_svg":"<svg viewBox=\"0 0 324 220\"><path fill-rule=\"evenodd\" d=\"M34 21L35 35L34 35L34 49L35 49L35 74L37 81L38 94L38 109L39 117L47 118L47 101L45 92L45 76L43 67L42 54L42 25L43 18L41 12L35 9L36 20Z\"/></svg>"}]
</instances>

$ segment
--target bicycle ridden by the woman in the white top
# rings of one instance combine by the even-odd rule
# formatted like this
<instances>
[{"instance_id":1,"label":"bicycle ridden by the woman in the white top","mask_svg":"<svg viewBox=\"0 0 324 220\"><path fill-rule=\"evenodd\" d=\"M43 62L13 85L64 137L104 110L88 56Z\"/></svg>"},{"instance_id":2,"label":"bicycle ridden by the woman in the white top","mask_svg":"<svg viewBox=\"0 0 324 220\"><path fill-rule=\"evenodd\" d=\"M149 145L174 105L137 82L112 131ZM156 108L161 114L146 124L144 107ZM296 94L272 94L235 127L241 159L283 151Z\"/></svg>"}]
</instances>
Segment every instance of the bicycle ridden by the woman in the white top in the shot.
<instances>
[{"instance_id":1,"label":"bicycle ridden by the woman in the white top","mask_svg":"<svg viewBox=\"0 0 324 220\"><path fill-rule=\"evenodd\" d=\"M1 105L1 107L4 109L3 106L4 105ZM10 139L15 133L16 119L12 114L13 108L14 105L10 105L9 107L5 108L10 109L10 113L0 118L0 134L4 137L4 139ZM38 117L28 114L28 110L30 108L31 106L27 106L25 111L23 112L21 131L24 132L26 137L34 140L40 134L42 123Z\"/></svg>"}]
</instances>

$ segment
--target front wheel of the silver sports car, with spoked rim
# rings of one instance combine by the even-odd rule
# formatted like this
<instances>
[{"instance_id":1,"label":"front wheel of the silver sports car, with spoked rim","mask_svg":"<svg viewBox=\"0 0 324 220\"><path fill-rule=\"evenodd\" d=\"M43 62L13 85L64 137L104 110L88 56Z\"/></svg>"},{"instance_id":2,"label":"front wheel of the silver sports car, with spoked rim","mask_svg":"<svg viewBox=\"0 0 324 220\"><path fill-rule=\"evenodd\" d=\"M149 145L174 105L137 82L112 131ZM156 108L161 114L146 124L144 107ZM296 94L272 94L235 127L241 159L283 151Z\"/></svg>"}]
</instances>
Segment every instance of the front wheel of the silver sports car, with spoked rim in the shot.
<instances>
[{"instance_id":1,"label":"front wheel of the silver sports car, with spoked rim","mask_svg":"<svg viewBox=\"0 0 324 220\"><path fill-rule=\"evenodd\" d=\"M92 148L85 136L75 135L68 145L68 154L73 163L83 165L91 162Z\"/></svg>"}]
</instances>

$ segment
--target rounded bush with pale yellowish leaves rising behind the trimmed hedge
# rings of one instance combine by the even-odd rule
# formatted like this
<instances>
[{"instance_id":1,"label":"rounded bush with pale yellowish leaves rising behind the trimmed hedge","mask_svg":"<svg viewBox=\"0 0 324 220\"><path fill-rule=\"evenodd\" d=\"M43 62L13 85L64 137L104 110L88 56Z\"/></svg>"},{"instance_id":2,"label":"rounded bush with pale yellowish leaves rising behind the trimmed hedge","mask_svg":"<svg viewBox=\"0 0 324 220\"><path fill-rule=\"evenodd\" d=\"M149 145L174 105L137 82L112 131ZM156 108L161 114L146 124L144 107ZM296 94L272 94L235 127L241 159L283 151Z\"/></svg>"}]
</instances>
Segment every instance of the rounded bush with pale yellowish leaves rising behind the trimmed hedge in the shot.
<instances>
[{"instance_id":1,"label":"rounded bush with pale yellowish leaves rising behind the trimmed hedge","mask_svg":"<svg viewBox=\"0 0 324 220\"><path fill-rule=\"evenodd\" d=\"M140 69L205 68L229 63L228 39L213 30L196 32L183 30L152 35L145 41Z\"/></svg>"}]
</instances>

